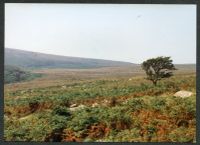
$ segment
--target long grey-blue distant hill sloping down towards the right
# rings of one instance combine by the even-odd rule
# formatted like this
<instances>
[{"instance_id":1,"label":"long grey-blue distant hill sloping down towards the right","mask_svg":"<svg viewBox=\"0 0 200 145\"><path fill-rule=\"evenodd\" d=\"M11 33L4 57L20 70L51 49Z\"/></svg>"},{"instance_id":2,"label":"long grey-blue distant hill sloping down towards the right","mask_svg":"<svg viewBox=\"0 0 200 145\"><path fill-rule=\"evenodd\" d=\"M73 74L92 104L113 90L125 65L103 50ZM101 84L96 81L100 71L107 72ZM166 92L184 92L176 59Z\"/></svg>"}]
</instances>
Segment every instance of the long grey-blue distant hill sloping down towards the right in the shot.
<instances>
[{"instance_id":1,"label":"long grey-blue distant hill sloping down towards the right","mask_svg":"<svg viewBox=\"0 0 200 145\"><path fill-rule=\"evenodd\" d=\"M50 55L44 53L5 49L5 64L24 68L100 68L115 66L132 66L133 63Z\"/></svg>"}]
</instances>

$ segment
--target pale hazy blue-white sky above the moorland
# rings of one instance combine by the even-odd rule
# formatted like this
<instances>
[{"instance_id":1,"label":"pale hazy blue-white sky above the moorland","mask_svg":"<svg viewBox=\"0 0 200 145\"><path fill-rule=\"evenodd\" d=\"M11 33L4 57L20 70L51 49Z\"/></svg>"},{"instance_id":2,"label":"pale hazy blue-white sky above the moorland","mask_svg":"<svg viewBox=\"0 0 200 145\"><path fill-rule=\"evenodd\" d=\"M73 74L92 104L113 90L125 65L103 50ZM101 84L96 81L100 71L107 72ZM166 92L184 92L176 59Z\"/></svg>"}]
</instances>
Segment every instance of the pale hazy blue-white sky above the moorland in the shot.
<instances>
[{"instance_id":1,"label":"pale hazy blue-white sky above the moorland","mask_svg":"<svg viewBox=\"0 0 200 145\"><path fill-rule=\"evenodd\" d=\"M5 4L5 48L142 63L196 63L196 6Z\"/></svg>"}]
</instances>

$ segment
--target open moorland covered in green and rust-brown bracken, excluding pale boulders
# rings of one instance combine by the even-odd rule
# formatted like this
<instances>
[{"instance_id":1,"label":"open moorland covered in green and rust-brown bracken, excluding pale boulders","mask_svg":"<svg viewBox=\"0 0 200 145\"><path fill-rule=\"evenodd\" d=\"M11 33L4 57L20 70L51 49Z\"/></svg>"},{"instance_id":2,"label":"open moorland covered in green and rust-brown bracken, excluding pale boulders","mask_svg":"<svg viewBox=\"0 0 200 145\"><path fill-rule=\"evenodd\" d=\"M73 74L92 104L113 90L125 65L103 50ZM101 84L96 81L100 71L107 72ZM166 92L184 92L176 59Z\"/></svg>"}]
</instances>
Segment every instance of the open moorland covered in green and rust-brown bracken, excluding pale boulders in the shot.
<instances>
[{"instance_id":1,"label":"open moorland covered in green and rust-brown bracken, excluding pale boulders","mask_svg":"<svg viewBox=\"0 0 200 145\"><path fill-rule=\"evenodd\" d=\"M35 72L45 75L5 85L6 141L195 142L192 69L177 70L157 86L132 68ZM174 97L179 90L194 95ZM85 107L72 111L72 104Z\"/></svg>"}]
</instances>

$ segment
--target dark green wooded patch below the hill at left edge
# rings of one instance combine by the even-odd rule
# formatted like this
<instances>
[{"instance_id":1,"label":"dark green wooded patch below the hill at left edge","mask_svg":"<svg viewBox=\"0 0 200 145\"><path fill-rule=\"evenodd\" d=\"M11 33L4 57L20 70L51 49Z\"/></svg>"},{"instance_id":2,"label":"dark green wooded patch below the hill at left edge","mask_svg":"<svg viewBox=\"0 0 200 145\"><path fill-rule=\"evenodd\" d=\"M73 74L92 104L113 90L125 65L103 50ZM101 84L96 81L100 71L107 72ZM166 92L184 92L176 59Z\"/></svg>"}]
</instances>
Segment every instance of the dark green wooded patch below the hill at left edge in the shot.
<instances>
[{"instance_id":1,"label":"dark green wooded patch below the hill at left edge","mask_svg":"<svg viewBox=\"0 0 200 145\"><path fill-rule=\"evenodd\" d=\"M37 77L41 77L41 74L32 74L29 71L25 71L20 67L6 65L4 69L4 82L16 83L21 81L29 81Z\"/></svg>"}]
</instances>

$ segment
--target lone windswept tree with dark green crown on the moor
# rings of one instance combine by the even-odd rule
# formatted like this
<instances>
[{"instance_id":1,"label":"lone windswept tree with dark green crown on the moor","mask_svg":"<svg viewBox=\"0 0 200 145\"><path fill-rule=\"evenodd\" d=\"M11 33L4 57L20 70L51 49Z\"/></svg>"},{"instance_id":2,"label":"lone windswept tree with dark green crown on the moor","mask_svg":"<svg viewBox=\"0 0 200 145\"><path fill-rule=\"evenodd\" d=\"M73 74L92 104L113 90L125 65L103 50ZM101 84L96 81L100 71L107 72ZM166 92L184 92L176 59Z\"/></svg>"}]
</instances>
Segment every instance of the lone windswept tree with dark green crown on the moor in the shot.
<instances>
[{"instance_id":1,"label":"lone windswept tree with dark green crown on the moor","mask_svg":"<svg viewBox=\"0 0 200 145\"><path fill-rule=\"evenodd\" d=\"M151 80L155 86L158 80L171 77L172 70L176 70L170 57L163 56L144 61L142 69L145 70L147 79Z\"/></svg>"}]
</instances>

